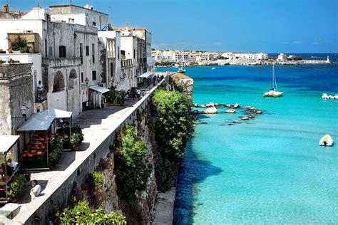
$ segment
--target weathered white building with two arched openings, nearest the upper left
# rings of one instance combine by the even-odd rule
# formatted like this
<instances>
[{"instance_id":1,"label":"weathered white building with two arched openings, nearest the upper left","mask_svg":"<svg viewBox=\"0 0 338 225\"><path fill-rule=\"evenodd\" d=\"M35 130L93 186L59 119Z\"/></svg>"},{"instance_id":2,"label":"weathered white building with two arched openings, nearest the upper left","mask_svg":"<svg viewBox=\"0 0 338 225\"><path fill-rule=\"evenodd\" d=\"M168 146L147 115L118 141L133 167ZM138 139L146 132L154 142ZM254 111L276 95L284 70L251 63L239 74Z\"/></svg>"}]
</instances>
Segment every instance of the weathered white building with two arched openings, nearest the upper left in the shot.
<instances>
[{"instance_id":1,"label":"weathered white building with two arched openings, nearest the upper left","mask_svg":"<svg viewBox=\"0 0 338 225\"><path fill-rule=\"evenodd\" d=\"M69 110L77 115L90 98L88 87L102 81L98 73L101 71L98 31L93 26L56 23L50 18L48 10L34 7L21 19L0 20L0 49L11 53L8 38L25 36L34 53L42 56L41 63L34 60L32 66L34 87L38 80L42 81L48 108Z\"/></svg>"}]
</instances>

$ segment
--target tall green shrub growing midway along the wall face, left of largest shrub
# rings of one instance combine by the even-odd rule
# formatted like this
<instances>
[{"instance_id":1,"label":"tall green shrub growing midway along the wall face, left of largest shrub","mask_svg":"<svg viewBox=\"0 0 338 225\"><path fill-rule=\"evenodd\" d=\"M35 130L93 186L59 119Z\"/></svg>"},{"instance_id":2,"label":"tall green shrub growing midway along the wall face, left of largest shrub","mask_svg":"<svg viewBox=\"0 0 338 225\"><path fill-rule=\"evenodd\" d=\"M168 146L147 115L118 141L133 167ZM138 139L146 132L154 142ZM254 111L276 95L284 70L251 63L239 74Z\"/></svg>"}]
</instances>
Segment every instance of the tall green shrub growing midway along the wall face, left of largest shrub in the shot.
<instances>
[{"instance_id":1,"label":"tall green shrub growing midway along the wall face, left of largest shrub","mask_svg":"<svg viewBox=\"0 0 338 225\"><path fill-rule=\"evenodd\" d=\"M138 140L136 129L127 125L118 137L115 154L115 173L118 192L129 204L135 199L135 191L147 184L152 165L146 159L145 142Z\"/></svg>"}]
</instances>

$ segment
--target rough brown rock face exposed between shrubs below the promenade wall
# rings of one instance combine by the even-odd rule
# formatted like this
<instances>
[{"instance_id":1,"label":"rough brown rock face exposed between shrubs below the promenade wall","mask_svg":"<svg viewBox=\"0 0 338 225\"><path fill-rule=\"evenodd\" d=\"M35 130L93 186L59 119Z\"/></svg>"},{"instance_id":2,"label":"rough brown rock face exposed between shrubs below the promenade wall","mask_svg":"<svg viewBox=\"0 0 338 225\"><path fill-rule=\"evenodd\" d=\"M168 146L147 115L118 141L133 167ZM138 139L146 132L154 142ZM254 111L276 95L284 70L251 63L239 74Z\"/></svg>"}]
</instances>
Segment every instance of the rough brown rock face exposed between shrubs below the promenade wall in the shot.
<instances>
[{"instance_id":1,"label":"rough brown rock face exposed between shrubs below the promenade wall","mask_svg":"<svg viewBox=\"0 0 338 225\"><path fill-rule=\"evenodd\" d=\"M162 85L165 90L179 90L192 100L193 94L193 79L185 75L174 74L168 79L168 82ZM114 174L114 156L113 151L106 159L102 159L96 171L103 174L103 187L94 194L86 192L86 197L82 199L91 199L90 202L96 208L103 208L106 212L117 211L123 212L126 216L128 224L150 224L153 216L155 199L157 195L157 185L155 179L155 161L156 161L156 142L153 129L150 125L149 103L145 108L137 110L136 120L133 125L137 128L138 137L143 140L147 146L146 160L152 164L152 171L148 178L146 187L142 191L136 191L135 205L130 207L123 199L118 198L118 187L115 182L116 175ZM112 143L114 144L114 143Z\"/></svg>"}]
</instances>

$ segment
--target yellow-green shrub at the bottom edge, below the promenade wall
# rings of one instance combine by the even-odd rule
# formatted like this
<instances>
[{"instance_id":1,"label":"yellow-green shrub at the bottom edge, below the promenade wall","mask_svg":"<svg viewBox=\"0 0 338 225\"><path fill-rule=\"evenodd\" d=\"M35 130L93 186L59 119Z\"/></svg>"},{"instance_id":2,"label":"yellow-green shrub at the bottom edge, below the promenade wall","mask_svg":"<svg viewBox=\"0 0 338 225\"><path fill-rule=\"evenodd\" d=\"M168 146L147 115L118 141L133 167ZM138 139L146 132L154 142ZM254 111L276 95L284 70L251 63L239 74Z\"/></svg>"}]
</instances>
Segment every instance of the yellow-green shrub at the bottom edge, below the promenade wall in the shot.
<instances>
[{"instance_id":1,"label":"yellow-green shrub at the bottom edge, below the promenade wall","mask_svg":"<svg viewBox=\"0 0 338 225\"><path fill-rule=\"evenodd\" d=\"M93 210L86 202L77 202L75 206L63 209L56 214L60 224L127 224L126 217L116 212L106 214L103 209Z\"/></svg>"}]
</instances>

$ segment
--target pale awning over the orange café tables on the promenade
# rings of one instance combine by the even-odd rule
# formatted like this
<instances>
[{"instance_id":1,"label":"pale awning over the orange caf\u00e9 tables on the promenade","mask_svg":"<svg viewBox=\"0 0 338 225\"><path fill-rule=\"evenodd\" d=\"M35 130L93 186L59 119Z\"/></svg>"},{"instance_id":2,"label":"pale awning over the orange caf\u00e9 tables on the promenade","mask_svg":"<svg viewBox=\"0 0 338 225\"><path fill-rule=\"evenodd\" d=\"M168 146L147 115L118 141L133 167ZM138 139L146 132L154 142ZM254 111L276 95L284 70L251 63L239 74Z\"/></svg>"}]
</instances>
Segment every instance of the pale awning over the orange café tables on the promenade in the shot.
<instances>
[{"instance_id":1,"label":"pale awning over the orange caf\u00e9 tables on the promenade","mask_svg":"<svg viewBox=\"0 0 338 225\"><path fill-rule=\"evenodd\" d=\"M29 118L29 120L19 127L18 131L45 131L49 129L55 118L70 118L71 115L72 112L50 108L48 110L35 113L31 118Z\"/></svg>"}]
</instances>

